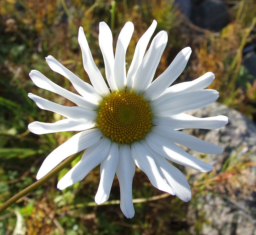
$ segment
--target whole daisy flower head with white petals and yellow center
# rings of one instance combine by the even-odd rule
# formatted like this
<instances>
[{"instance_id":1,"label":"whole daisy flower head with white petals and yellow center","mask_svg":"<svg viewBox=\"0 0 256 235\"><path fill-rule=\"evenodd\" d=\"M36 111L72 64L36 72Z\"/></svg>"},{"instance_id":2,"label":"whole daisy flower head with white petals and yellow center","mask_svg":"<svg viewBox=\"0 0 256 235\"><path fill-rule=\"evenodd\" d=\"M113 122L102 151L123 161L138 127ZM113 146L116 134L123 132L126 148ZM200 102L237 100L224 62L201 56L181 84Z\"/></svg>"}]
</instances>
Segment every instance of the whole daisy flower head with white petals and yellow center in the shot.
<instances>
[{"instance_id":1,"label":"whole daisy flower head with white petals and yellow center","mask_svg":"<svg viewBox=\"0 0 256 235\"><path fill-rule=\"evenodd\" d=\"M37 70L29 74L36 86L65 97L76 106L62 106L29 93L29 98L39 108L66 118L55 123L35 121L28 125L28 129L35 134L80 131L46 157L36 179L45 176L68 156L86 149L81 160L60 179L57 187L62 190L81 181L100 164L100 183L95 202L101 204L108 200L116 174L120 185L120 208L127 218L134 216L132 179L136 166L148 176L154 187L188 201L191 199L189 184L169 161L201 172L208 172L213 167L176 144L202 153L221 153L223 149L180 129L215 129L228 122L228 118L222 115L196 118L184 114L185 111L209 105L219 97L216 90L205 89L214 79L211 72L194 81L170 86L187 65L190 47L181 50L170 66L153 81L167 44L167 33L161 31L145 53L156 24L154 20L141 36L126 74L125 54L134 26L132 22L124 25L114 56L111 30L105 22L100 22L99 45L108 85L94 63L82 27L79 28L78 42L84 69L92 85L52 56L46 57L47 64L66 77L80 95L65 90Z\"/></svg>"}]
</instances>

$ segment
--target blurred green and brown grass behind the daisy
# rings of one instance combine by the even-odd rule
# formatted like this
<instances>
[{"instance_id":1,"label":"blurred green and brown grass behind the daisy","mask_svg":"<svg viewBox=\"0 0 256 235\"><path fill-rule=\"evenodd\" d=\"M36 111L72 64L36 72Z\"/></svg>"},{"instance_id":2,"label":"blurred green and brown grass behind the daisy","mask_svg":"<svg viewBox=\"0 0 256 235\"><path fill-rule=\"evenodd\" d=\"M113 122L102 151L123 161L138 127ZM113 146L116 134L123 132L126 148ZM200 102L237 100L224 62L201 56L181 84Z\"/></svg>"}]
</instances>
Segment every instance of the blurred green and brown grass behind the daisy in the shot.
<instances>
[{"instance_id":1,"label":"blurred green and brown grass behind the daisy","mask_svg":"<svg viewBox=\"0 0 256 235\"><path fill-rule=\"evenodd\" d=\"M96 65L104 74L104 63L98 45L98 25L105 21L111 26L114 45L124 23L134 23L134 33L127 51L129 66L136 42L153 19L158 22L156 32L166 30L168 43L156 71L161 74L177 52L191 46L193 53L180 81L185 75L193 79L207 71L216 74L211 85L220 91L219 101L243 111L251 119L256 113L256 83L248 82L250 75L241 65L242 49L255 37L256 3L253 0L233 1L230 10L233 20L219 33L197 32L171 1L64 1L64 0L2 0L0 2L0 204L32 184L36 172L54 148L73 133L34 135L27 129L32 121L53 122L59 116L40 110L27 96L28 92L63 105L72 105L54 93L38 89L28 73L36 69L53 82L73 92L67 79L51 71L44 58L54 56L63 65L89 82L84 72L77 42L78 27L83 26ZM113 7L113 4L116 6ZM254 29L255 30L255 29ZM247 81L247 82L246 82ZM227 89L228 88L228 89ZM230 156L231 157L231 156ZM74 162L73 162L74 163ZM196 205L201 194L215 192L215 184L229 185L230 172L239 174L247 167L239 161L224 168L221 175L202 174L192 184L191 200ZM68 169L60 172L60 178ZM125 219L119 205L95 206L99 183L99 167L84 181L59 191L57 177L31 192L0 215L0 234L12 234L21 226L24 234L188 234L190 218L188 203L176 197L134 204L135 216ZM206 187L204 182L208 182ZM243 185L246 187L246 185ZM137 170L133 180L133 198L160 195L147 177ZM119 185L114 180L109 200L119 199ZM81 206L82 205L82 206ZM20 216L21 215L21 216ZM194 228L199 234L205 218L197 215ZM17 230L17 229L16 229Z\"/></svg>"}]
</instances>

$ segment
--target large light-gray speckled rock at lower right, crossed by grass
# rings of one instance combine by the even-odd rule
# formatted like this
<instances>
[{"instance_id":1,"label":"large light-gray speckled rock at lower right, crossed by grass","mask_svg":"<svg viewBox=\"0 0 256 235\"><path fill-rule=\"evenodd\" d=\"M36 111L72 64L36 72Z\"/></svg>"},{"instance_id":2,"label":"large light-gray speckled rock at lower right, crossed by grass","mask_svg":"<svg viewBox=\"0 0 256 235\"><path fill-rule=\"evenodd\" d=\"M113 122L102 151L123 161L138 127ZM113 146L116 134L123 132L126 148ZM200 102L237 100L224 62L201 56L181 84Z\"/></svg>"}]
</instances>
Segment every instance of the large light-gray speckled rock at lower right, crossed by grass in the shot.
<instances>
[{"instance_id":1,"label":"large light-gray speckled rock at lower right, crossed by grass","mask_svg":"<svg viewBox=\"0 0 256 235\"><path fill-rule=\"evenodd\" d=\"M198 137L221 146L224 149L222 154L206 154L203 161L214 165L219 174L225 160L233 156L233 160L252 161L254 166L245 168L243 174L236 175L243 179L243 184L249 190L244 192L244 185L230 185L231 193L225 185L222 190L206 195L201 195L197 199L197 205L189 205L188 214L204 214L202 230L200 234L211 235L256 235L256 125L243 114L228 108L217 102L196 111L187 112L196 117L208 117L216 115L226 115L229 123L214 130L186 130L187 133L196 134ZM200 153L188 151L195 157ZM195 170L192 173L192 181L201 173ZM240 174L240 173L238 173ZM221 185L219 186L221 187ZM233 188L232 188L233 187ZM218 188L218 187L217 187ZM224 192L223 192L224 191ZM196 196L196 195L194 195ZM195 218L196 221L196 218ZM194 222L195 222L194 221ZM193 223L191 233L195 234Z\"/></svg>"}]
</instances>

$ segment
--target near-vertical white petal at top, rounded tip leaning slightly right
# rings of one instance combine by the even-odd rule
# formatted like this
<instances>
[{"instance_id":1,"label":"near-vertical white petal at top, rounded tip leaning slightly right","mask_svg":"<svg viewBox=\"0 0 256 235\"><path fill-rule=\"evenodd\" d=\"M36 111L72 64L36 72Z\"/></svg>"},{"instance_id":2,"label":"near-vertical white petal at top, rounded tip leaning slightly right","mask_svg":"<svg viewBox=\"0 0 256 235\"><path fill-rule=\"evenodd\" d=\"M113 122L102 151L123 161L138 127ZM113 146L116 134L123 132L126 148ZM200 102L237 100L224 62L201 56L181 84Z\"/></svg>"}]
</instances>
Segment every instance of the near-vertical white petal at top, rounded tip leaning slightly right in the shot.
<instances>
[{"instance_id":1,"label":"near-vertical white petal at top, rounded tip leaning slightly right","mask_svg":"<svg viewBox=\"0 0 256 235\"><path fill-rule=\"evenodd\" d=\"M124 85L126 84L125 54L132 38L133 30L132 22L126 22L116 42L114 76L119 91L124 90Z\"/></svg>"}]
</instances>

